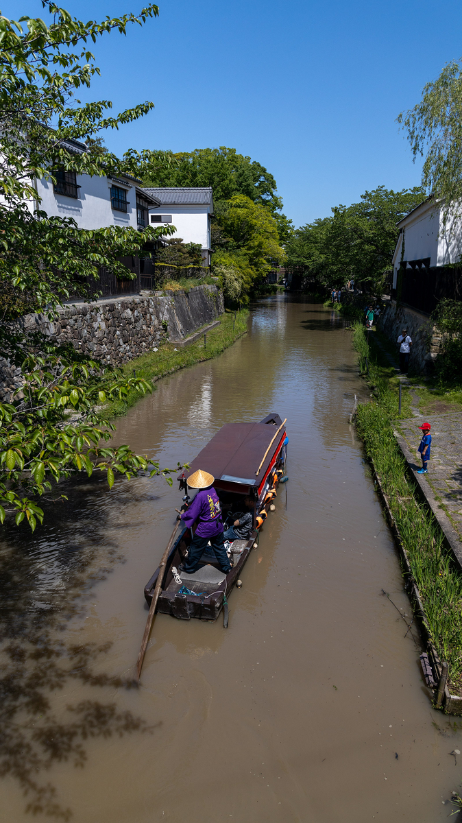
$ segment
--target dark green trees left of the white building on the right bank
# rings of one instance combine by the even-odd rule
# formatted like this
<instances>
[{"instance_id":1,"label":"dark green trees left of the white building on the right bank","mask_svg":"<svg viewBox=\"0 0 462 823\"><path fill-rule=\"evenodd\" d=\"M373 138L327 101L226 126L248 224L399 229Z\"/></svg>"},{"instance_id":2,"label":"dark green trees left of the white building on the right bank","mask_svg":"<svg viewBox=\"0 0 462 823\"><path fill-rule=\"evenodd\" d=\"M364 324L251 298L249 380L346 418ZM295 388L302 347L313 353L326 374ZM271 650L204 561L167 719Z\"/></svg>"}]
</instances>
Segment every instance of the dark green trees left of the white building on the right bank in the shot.
<instances>
[{"instance_id":1,"label":"dark green trees left of the white building on the right bank","mask_svg":"<svg viewBox=\"0 0 462 823\"><path fill-rule=\"evenodd\" d=\"M332 216L296 230L286 244L288 267L313 286L343 286L352 277L379 291L390 268L396 223L422 202L422 188L400 192L379 186L351 206L332 208Z\"/></svg>"}]
</instances>

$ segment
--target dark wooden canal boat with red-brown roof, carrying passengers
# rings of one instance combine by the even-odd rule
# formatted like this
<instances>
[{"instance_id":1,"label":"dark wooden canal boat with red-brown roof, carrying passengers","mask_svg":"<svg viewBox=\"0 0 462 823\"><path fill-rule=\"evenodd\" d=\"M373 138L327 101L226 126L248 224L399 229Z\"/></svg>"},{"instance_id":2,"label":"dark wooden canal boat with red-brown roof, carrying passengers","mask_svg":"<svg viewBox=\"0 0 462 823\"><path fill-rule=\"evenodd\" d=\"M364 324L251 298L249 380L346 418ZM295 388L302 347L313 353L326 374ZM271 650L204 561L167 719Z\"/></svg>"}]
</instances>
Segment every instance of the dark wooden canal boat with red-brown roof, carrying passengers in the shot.
<instances>
[{"instance_id":1,"label":"dark wooden canal boat with red-brown roof, carrying passengers","mask_svg":"<svg viewBox=\"0 0 462 823\"><path fill-rule=\"evenodd\" d=\"M252 547L258 545L259 531L270 511L280 478L284 475L287 454L285 421L270 414L260 423L229 423L224 425L193 460L188 475L201 468L215 477L214 487L222 509L231 513L244 509L243 499L254 501L253 529L247 540L235 540L231 545L233 568L229 574L219 570L210 549L201 558L194 574L174 574L185 558L192 540L191 529L183 527L169 552L157 611L181 620L197 617L215 621L224 609L224 625L228 625L228 597L236 584ZM184 473L178 477L180 490L187 490ZM248 509L247 509L248 510ZM159 567L145 587L150 605Z\"/></svg>"}]
</instances>

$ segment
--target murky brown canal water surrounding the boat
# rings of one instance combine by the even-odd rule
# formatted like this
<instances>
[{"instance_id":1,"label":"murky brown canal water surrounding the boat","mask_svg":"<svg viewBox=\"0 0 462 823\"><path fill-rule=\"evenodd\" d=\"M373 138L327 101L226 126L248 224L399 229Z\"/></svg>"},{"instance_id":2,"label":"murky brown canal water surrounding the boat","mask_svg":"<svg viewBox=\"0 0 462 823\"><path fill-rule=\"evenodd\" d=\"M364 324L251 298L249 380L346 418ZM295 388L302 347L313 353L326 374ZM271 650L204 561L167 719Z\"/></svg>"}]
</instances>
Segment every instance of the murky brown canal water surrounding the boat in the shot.
<instances>
[{"instance_id":1,"label":"murky brown canal water surrounding the boat","mask_svg":"<svg viewBox=\"0 0 462 823\"><path fill-rule=\"evenodd\" d=\"M34 536L3 533L2 821L446 821L462 736L404 636L400 565L348 423L366 392L344 322L278 295L118 421L118 444L173 467L224 423L288 419L289 482L229 629L156 616L139 689L143 586L177 483L82 480Z\"/></svg>"}]
</instances>

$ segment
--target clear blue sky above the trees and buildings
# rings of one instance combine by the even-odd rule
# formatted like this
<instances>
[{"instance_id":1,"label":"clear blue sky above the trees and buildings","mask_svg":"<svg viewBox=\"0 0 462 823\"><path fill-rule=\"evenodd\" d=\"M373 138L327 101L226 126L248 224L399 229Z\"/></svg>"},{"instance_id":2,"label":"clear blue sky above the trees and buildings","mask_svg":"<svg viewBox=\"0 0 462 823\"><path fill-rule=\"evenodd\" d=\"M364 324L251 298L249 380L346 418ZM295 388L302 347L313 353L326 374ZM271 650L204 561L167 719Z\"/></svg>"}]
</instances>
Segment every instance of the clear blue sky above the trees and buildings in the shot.
<instances>
[{"instance_id":1,"label":"clear blue sky above the trees and buildings","mask_svg":"<svg viewBox=\"0 0 462 823\"><path fill-rule=\"evenodd\" d=\"M136 0L59 0L83 20L136 12ZM145 0L146 2L146 0ZM44 16L2 0L5 16ZM92 47L102 77L82 100L154 111L106 143L192 151L234 146L265 165L296 226L366 189L418 185L396 116L462 55L462 3L159 0L159 17Z\"/></svg>"}]
</instances>

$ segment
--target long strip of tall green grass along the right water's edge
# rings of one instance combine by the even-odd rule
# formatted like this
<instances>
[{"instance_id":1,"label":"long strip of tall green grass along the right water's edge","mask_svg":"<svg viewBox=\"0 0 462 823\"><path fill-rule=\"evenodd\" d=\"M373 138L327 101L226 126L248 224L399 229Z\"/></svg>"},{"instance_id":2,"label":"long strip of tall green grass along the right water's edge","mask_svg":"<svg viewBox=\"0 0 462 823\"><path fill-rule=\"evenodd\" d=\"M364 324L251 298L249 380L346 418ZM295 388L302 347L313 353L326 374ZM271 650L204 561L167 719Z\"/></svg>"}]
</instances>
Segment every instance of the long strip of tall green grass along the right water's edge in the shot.
<instances>
[{"instance_id":1,"label":"long strip of tall green grass along the right water's edge","mask_svg":"<svg viewBox=\"0 0 462 823\"><path fill-rule=\"evenodd\" d=\"M432 643L441 661L449 664L451 690L460 694L462 576L452 565L450 551L443 545L439 524L417 500L415 486L406 477L406 464L393 435L394 427L399 424L397 381L394 370L373 342L372 334L370 337L371 345L367 346L363 325L354 324L353 345L359 354L359 366L364 371L367 358L369 383L375 395L372 402L358 407L358 433L390 500L390 509L423 600ZM404 398L406 396L404 393ZM404 414L409 414L409 405L404 407Z\"/></svg>"}]
</instances>

